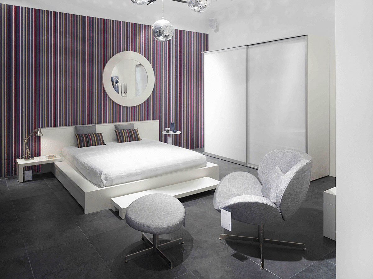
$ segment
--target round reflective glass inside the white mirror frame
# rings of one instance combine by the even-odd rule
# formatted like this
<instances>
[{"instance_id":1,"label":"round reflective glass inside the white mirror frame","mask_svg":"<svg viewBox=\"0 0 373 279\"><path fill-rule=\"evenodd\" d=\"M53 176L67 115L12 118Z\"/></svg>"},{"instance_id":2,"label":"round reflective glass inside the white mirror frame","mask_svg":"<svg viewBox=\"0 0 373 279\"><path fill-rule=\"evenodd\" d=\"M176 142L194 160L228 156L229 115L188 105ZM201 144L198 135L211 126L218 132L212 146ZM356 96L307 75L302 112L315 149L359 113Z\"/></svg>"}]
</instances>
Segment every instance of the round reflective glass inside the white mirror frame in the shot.
<instances>
[{"instance_id":1,"label":"round reflective glass inside the white mirror frame","mask_svg":"<svg viewBox=\"0 0 373 279\"><path fill-rule=\"evenodd\" d=\"M144 66L133 59L124 59L117 63L111 76L115 92L127 99L140 96L148 83Z\"/></svg>"}]
</instances>

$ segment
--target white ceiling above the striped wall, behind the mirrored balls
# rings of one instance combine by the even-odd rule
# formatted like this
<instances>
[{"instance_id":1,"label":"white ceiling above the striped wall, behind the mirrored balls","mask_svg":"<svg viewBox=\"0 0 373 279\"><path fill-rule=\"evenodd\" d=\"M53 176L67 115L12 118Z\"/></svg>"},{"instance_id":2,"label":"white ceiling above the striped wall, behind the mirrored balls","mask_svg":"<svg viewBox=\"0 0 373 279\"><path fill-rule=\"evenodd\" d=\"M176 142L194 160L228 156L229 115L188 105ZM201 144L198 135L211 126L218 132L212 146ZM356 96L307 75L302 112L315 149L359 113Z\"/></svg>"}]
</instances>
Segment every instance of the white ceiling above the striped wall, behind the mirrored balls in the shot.
<instances>
[{"instance_id":1,"label":"white ceiling above the striped wall, behind the mirrored balls","mask_svg":"<svg viewBox=\"0 0 373 279\"><path fill-rule=\"evenodd\" d=\"M164 18L176 29L207 33L209 17L243 2L245 0L212 0L209 10L195 13L186 3L164 0ZM131 0L0 0L0 3L147 25L153 25L162 17L162 0L151 5L137 5Z\"/></svg>"}]
</instances>

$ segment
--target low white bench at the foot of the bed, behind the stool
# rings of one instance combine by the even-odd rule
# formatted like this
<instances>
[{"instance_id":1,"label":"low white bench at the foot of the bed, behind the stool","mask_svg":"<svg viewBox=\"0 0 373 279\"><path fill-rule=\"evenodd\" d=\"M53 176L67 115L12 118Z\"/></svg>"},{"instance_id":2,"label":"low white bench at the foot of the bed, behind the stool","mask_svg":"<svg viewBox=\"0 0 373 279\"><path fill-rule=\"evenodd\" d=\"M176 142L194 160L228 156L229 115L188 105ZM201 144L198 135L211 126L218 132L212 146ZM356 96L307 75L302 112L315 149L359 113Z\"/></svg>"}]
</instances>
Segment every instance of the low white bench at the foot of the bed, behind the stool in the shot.
<instances>
[{"instance_id":1,"label":"low white bench at the foot of the bed, behind the stool","mask_svg":"<svg viewBox=\"0 0 373 279\"><path fill-rule=\"evenodd\" d=\"M142 196L154 193L162 193L174 196L178 199L185 196L201 193L207 190L215 189L218 184L219 180L213 179L211 177L202 177L191 181L177 183L143 192L133 193L130 195L112 198L112 209L113 211L119 211L120 218L124 219L126 216L128 206L133 201L137 200L138 198L141 198Z\"/></svg>"}]
</instances>

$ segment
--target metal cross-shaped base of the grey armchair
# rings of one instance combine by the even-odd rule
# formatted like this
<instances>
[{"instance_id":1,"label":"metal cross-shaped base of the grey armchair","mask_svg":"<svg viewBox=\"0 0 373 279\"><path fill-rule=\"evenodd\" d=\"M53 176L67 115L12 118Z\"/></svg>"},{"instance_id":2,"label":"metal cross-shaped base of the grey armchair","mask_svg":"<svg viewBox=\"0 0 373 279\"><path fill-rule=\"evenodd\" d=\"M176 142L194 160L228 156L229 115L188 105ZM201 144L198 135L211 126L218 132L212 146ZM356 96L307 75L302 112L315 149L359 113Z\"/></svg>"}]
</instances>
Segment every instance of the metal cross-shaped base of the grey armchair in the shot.
<instances>
[{"instance_id":1,"label":"metal cross-shaped base of the grey armchair","mask_svg":"<svg viewBox=\"0 0 373 279\"><path fill-rule=\"evenodd\" d=\"M303 248L304 251L307 249L305 248L304 243L296 243L296 242L288 242L288 241L280 241L280 240L272 240L264 238L264 226L258 226L258 237L247 237L247 236L240 236L240 235L230 235L230 234L220 234L219 239L229 239L229 240L244 240L244 241L257 241L260 243L260 269L264 269L264 259L263 259L263 243L269 244L277 244L282 246L289 246L294 248Z\"/></svg>"}]
</instances>

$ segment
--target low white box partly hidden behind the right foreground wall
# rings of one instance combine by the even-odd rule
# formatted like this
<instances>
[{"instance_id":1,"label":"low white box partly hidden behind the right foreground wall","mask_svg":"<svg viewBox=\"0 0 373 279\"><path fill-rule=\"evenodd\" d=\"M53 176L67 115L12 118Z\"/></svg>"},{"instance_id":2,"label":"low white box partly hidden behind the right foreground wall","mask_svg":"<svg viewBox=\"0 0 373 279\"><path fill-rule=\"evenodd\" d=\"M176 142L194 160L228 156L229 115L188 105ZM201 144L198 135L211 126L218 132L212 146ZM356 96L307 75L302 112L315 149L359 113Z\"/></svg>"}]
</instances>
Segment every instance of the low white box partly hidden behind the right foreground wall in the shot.
<instances>
[{"instance_id":1,"label":"low white box partly hidden behind the right foreground wall","mask_svg":"<svg viewBox=\"0 0 373 279\"><path fill-rule=\"evenodd\" d=\"M324 236L335 240L336 187L324 191Z\"/></svg>"}]
</instances>

